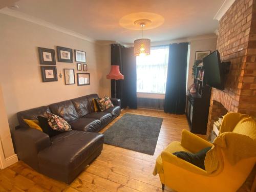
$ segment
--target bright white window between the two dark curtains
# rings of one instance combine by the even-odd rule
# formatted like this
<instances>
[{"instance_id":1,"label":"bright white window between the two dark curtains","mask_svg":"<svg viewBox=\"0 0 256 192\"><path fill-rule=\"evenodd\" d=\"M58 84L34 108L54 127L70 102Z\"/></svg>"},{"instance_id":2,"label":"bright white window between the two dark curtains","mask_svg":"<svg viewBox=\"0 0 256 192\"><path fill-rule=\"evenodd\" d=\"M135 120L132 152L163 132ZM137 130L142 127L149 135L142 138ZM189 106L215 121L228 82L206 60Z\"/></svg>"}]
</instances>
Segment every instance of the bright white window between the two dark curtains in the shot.
<instances>
[{"instance_id":1,"label":"bright white window between the two dark curtains","mask_svg":"<svg viewBox=\"0 0 256 192\"><path fill-rule=\"evenodd\" d=\"M137 92L165 93L169 46L151 47L147 56L137 56Z\"/></svg>"}]
</instances>

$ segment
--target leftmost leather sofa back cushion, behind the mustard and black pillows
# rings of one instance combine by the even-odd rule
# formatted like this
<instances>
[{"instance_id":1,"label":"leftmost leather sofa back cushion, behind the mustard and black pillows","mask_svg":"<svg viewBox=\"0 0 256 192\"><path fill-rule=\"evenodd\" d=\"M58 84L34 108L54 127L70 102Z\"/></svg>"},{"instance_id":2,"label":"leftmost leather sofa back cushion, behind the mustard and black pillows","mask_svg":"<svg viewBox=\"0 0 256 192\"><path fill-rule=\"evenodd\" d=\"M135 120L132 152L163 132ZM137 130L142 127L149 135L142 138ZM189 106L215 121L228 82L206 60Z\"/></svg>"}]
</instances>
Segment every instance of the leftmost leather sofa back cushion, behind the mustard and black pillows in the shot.
<instances>
[{"instance_id":1,"label":"leftmost leather sofa back cushion, behind the mustard and black pillows","mask_svg":"<svg viewBox=\"0 0 256 192\"><path fill-rule=\"evenodd\" d=\"M49 106L39 106L39 108L20 111L17 113L19 125L21 127L29 128L29 125L23 119L38 120L37 116L47 117L47 113L49 112L50 112Z\"/></svg>"}]
</instances>

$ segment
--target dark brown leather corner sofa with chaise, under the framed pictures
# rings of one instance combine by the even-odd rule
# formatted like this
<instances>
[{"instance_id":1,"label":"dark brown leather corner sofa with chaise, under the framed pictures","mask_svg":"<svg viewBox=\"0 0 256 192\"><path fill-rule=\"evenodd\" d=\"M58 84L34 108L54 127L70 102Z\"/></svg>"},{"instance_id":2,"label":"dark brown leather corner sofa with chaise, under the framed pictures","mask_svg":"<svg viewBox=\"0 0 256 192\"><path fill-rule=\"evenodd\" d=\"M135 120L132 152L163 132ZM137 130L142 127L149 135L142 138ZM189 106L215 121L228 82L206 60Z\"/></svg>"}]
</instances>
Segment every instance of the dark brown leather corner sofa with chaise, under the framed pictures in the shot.
<instances>
[{"instance_id":1,"label":"dark brown leather corner sofa with chaise, under the framed pictures","mask_svg":"<svg viewBox=\"0 0 256 192\"><path fill-rule=\"evenodd\" d=\"M12 133L18 158L46 176L71 183L100 155L104 136L97 132L120 115L120 99L111 99L114 107L94 112L95 98L98 95L91 94L18 112L19 127ZM68 121L72 131L49 137L23 120L47 117L47 112Z\"/></svg>"}]
</instances>

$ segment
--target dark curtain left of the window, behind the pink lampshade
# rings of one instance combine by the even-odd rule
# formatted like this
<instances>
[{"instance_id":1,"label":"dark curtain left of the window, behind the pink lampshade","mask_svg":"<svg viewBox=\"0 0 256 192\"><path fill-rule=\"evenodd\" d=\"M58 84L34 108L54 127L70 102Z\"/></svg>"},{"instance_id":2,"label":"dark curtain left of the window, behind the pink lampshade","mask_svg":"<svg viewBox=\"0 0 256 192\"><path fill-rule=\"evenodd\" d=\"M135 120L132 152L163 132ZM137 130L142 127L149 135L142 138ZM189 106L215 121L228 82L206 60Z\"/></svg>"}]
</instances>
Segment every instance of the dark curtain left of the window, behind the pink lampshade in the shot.
<instances>
[{"instance_id":1,"label":"dark curtain left of the window, behind the pink lampshade","mask_svg":"<svg viewBox=\"0 0 256 192\"><path fill-rule=\"evenodd\" d=\"M137 75L134 48L125 48L120 44L111 45L111 65L117 65L124 75L116 81L117 98L121 99L121 108L129 106L137 109ZM114 97L114 80L111 80L111 95Z\"/></svg>"}]
</instances>

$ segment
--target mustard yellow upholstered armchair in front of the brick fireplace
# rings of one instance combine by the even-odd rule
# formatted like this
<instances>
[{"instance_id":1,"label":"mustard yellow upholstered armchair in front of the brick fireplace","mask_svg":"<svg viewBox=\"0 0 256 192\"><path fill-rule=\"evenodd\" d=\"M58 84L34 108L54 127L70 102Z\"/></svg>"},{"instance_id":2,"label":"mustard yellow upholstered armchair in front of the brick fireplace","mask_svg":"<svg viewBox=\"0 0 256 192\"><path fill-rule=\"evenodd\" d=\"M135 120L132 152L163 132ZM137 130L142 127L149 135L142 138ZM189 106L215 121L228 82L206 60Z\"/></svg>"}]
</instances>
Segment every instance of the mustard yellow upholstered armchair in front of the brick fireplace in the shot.
<instances>
[{"instance_id":1,"label":"mustard yellow upholstered armchair in front of the brick fireplace","mask_svg":"<svg viewBox=\"0 0 256 192\"><path fill-rule=\"evenodd\" d=\"M159 175L163 191L165 185L178 192L237 191L256 162L256 123L247 115L228 113L217 138L212 144L183 130L181 142L170 143L156 160L153 175ZM177 151L197 153L208 146L212 148L205 167L210 172L173 155ZM248 152L241 152L245 148Z\"/></svg>"}]
</instances>

